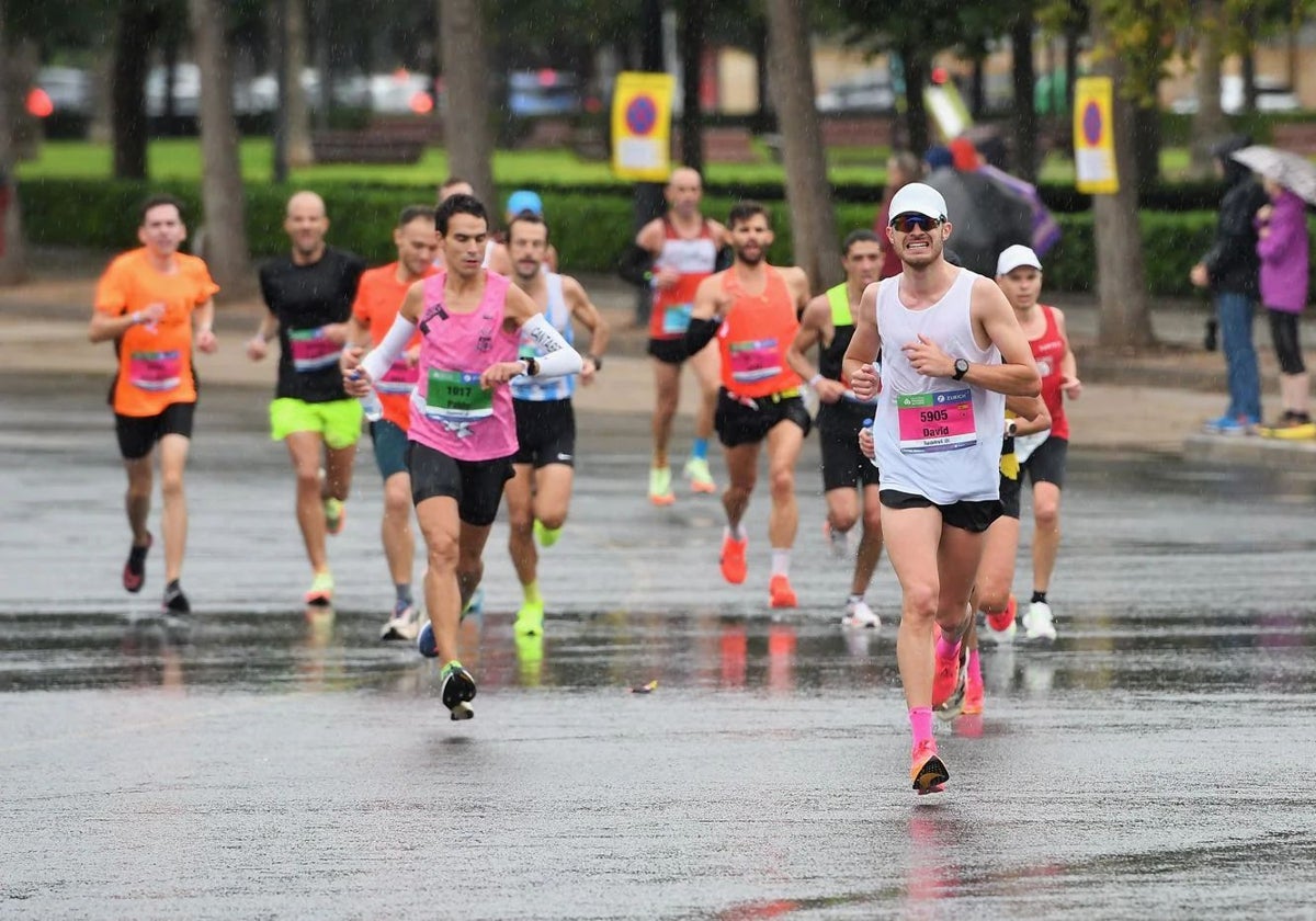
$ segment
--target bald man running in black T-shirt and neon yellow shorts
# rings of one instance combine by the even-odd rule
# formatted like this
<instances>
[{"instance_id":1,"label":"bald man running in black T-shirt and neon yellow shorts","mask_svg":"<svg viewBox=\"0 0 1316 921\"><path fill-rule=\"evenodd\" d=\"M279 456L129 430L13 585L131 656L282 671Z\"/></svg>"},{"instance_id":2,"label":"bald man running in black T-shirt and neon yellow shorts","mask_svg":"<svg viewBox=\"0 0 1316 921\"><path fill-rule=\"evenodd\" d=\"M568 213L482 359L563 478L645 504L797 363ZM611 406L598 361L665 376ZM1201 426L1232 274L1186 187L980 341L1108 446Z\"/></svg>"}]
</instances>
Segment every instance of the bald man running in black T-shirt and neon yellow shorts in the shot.
<instances>
[{"instance_id":1,"label":"bald man running in black T-shirt and neon yellow shorts","mask_svg":"<svg viewBox=\"0 0 1316 921\"><path fill-rule=\"evenodd\" d=\"M270 339L279 337L270 434L287 443L296 474L297 525L313 572L305 601L329 604L334 585L325 534L342 530L361 437L361 404L342 388L338 355L366 264L325 243L329 217L315 192L288 199L283 229L292 253L261 266L261 295L268 312L247 342L247 357L262 361Z\"/></svg>"}]
</instances>

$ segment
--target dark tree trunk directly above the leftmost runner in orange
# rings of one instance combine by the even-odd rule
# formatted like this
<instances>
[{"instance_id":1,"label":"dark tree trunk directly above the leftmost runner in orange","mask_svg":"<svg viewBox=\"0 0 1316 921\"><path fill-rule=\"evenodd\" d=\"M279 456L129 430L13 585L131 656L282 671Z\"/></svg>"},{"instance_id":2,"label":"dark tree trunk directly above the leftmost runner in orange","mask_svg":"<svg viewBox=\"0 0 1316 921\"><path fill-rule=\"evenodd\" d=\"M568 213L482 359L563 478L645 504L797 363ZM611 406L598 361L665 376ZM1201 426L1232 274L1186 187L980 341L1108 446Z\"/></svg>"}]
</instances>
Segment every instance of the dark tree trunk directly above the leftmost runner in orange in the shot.
<instances>
[{"instance_id":1,"label":"dark tree trunk directly above the leftmost runner in orange","mask_svg":"<svg viewBox=\"0 0 1316 921\"><path fill-rule=\"evenodd\" d=\"M159 25L158 11L147 0L124 0L118 8L111 74L116 179L146 179L146 72Z\"/></svg>"}]
</instances>

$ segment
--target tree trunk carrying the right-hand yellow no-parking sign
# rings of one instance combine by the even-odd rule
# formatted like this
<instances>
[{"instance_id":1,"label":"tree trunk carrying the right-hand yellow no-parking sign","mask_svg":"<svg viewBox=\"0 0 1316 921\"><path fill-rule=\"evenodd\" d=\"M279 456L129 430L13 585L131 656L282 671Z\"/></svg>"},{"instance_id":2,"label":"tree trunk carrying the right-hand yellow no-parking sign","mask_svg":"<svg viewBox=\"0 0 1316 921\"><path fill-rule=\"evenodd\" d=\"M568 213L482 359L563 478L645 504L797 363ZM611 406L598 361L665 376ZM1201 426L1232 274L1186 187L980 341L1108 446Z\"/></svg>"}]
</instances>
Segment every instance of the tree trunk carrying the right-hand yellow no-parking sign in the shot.
<instances>
[{"instance_id":1,"label":"tree trunk carrying the right-hand yellow no-parking sign","mask_svg":"<svg viewBox=\"0 0 1316 921\"><path fill-rule=\"evenodd\" d=\"M1095 47L1109 47L1100 4L1092 4ZM1133 170L1133 107L1121 92L1123 62L1105 54L1095 67L1115 80L1113 121L1116 172L1120 191L1092 196L1096 236L1096 292L1101 305L1098 339L1119 354L1134 354L1155 345L1146 284L1142 234L1138 232L1138 196Z\"/></svg>"}]
</instances>

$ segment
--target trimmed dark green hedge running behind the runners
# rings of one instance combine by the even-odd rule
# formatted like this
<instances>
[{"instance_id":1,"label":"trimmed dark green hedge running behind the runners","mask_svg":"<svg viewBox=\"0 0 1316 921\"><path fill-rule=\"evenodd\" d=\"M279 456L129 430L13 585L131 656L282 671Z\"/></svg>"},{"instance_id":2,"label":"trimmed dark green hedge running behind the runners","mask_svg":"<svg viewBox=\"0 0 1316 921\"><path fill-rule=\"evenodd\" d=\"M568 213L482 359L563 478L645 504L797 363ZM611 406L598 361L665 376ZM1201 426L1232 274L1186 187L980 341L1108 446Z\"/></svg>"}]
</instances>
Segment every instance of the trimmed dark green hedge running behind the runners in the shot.
<instances>
[{"instance_id":1,"label":"trimmed dark green hedge running behind the runners","mask_svg":"<svg viewBox=\"0 0 1316 921\"><path fill-rule=\"evenodd\" d=\"M247 236L251 253L265 258L286 253L283 213L291 186L246 188ZM430 201L430 191L361 187L321 183L317 191L329 207L329 239L359 253L371 263L396 258L392 228L408 204ZM151 192L168 192L184 203L184 220L195 234L201 212L200 189L188 182L130 183L109 180L42 180L20 186L25 233L41 246L79 246L105 251L136 245L137 209ZM545 212L553 222L553 242L569 271L609 272L634 238L634 205L629 196L595 192L542 191ZM708 214L722 218L738 200L708 195ZM766 200L772 211L776 241L769 258L791 259L791 228L786 203ZM873 226L875 203L837 201L837 226L842 233ZM1094 291L1096 250L1090 212L1057 214L1063 236L1048 254L1046 287L1050 291ZM1142 212L1140 214L1148 289L1154 296L1182 297L1194 293L1188 270L1209 249L1216 216L1211 211ZM1313 225L1316 239L1316 225Z\"/></svg>"}]
</instances>

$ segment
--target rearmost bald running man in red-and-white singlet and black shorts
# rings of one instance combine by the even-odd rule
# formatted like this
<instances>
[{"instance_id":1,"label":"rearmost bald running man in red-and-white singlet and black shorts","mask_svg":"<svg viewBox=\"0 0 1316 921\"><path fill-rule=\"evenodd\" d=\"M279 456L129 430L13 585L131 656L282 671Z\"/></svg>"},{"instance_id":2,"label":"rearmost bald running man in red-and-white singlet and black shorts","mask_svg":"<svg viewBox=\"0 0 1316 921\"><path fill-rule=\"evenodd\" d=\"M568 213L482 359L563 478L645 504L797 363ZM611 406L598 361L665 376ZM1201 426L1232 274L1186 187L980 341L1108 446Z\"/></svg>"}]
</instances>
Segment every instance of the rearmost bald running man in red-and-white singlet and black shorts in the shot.
<instances>
[{"instance_id":1,"label":"rearmost bald running man in red-and-white singlet and black shorts","mask_svg":"<svg viewBox=\"0 0 1316 921\"><path fill-rule=\"evenodd\" d=\"M653 286L653 309L649 316L649 354L654 368L654 454L649 470L649 501L671 505L671 467L667 446L672 418L680 399L680 367L690 361L699 379L703 400L695 417L695 442L684 474L694 492L717 492L708 470L708 438L713 433L717 407L717 350L704 347L686 351L686 329L691 305L700 283L717 268L717 253L729 242L726 228L711 221L699 211L703 182L699 172L682 167L671 174L665 189L667 214L640 229L636 247L650 263L644 268L646 283ZM628 274L630 280L637 280Z\"/></svg>"}]
</instances>

